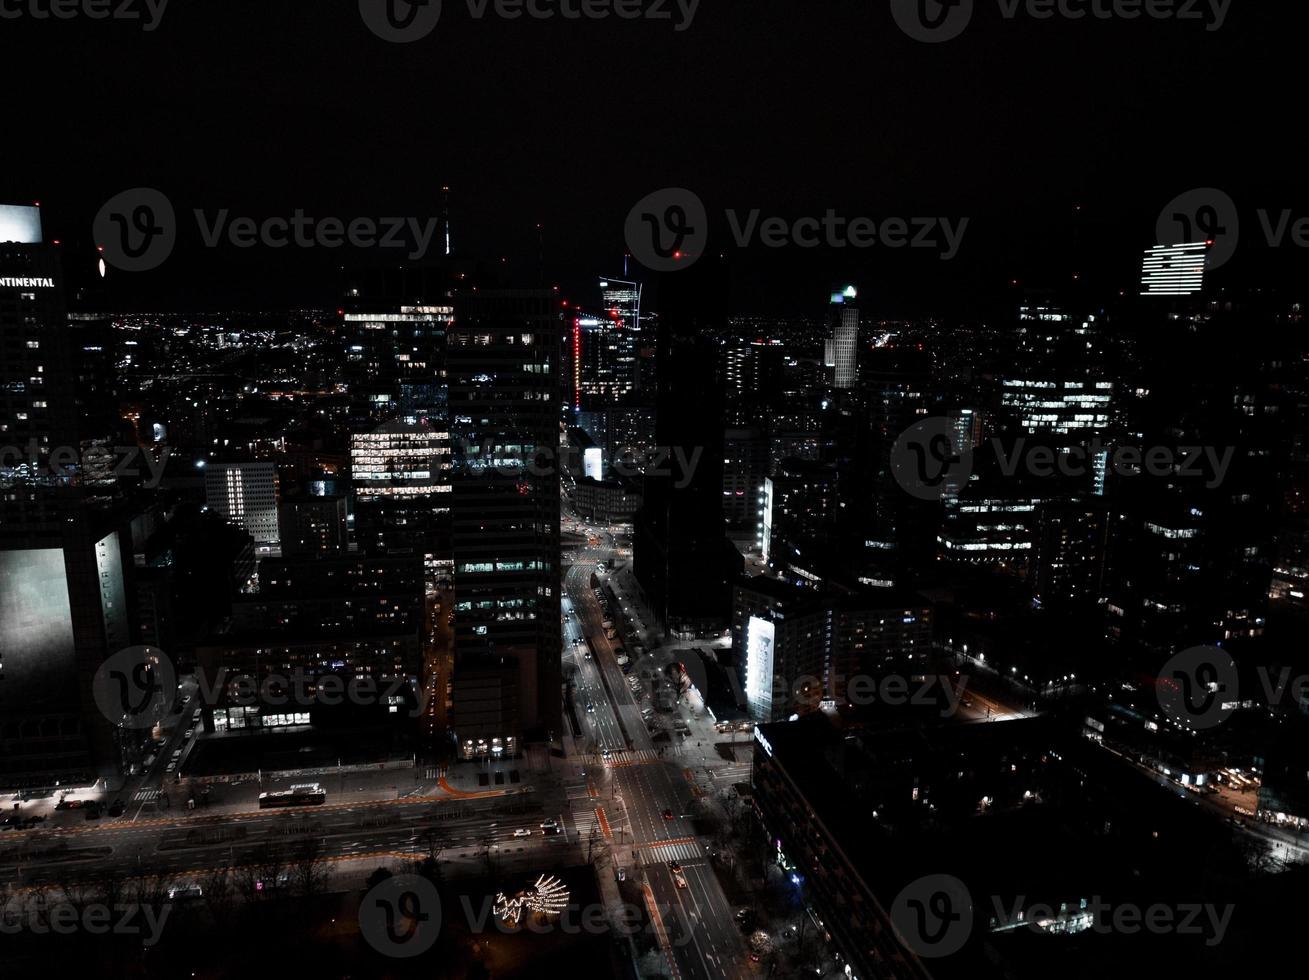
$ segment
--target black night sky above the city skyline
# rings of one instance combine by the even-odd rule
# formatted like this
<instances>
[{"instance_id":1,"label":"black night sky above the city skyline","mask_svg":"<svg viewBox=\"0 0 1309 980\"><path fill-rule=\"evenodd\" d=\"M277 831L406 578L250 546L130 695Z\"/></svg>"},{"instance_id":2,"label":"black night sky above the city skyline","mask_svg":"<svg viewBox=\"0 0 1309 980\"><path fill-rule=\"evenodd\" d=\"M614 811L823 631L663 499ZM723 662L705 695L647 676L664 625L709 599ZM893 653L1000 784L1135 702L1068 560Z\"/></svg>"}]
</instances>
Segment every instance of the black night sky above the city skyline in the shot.
<instances>
[{"instance_id":1,"label":"black night sky above the city skyline","mask_svg":"<svg viewBox=\"0 0 1309 980\"><path fill-rule=\"evenodd\" d=\"M377 260L203 249L192 208L425 219L442 183L458 251L534 284L543 222L547 281L584 301L593 273L620 270L631 207L668 186L719 216L970 219L948 263L757 245L733 262L742 313L818 314L843 280L888 317L978 315L1013 279L1131 289L1160 209L1204 186L1241 208L1227 275L1295 285L1309 254L1270 255L1255 213L1309 215L1300 8L1234 0L1207 31L1003 20L978 0L940 44L901 31L888 0L704 0L683 31L473 20L446 0L411 44L377 38L353 0L175 1L151 33L0 20L0 200L41 200L47 237L84 254L106 199L164 191L182 216L174 255L110 292L145 309L332 306L332 270ZM725 225L711 241L732 247Z\"/></svg>"}]
</instances>

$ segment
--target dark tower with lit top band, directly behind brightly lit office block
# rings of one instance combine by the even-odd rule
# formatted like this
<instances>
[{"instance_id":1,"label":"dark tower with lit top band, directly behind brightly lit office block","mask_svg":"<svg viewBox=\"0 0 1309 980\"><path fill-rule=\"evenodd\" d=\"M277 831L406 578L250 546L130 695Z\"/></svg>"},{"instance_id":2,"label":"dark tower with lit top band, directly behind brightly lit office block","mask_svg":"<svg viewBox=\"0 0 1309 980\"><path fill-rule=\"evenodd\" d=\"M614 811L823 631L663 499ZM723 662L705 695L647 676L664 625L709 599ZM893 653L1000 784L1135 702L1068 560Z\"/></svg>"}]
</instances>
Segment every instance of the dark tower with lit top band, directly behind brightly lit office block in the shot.
<instances>
[{"instance_id":1,"label":"dark tower with lit top band, directly behind brightly lit office block","mask_svg":"<svg viewBox=\"0 0 1309 980\"><path fill-rule=\"evenodd\" d=\"M357 429L394 419L445 425L449 305L346 313L343 377Z\"/></svg>"}]
</instances>

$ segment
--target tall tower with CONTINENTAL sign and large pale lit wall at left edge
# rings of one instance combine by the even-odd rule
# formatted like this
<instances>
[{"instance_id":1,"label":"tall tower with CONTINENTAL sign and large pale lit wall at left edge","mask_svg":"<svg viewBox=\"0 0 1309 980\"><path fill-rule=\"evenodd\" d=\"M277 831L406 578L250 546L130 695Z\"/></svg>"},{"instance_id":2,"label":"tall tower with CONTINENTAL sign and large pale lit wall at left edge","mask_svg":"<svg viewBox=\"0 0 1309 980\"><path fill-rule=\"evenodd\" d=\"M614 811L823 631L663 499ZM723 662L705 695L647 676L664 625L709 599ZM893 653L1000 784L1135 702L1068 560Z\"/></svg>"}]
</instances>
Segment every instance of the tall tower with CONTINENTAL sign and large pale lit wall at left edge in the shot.
<instances>
[{"instance_id":1,"label":"tall tower with CONTINENTAL sign and large pale lit wall at left edge","mask_svg":"<svg viewBox=\"0 0 1309 980\"><path fill-rule=\"evenodd\" d=\"M90 687L130 644L131 548L81 479L63 272L34 207L0 205L0 785L113 775Z\"/></svg>"}]
</instances>

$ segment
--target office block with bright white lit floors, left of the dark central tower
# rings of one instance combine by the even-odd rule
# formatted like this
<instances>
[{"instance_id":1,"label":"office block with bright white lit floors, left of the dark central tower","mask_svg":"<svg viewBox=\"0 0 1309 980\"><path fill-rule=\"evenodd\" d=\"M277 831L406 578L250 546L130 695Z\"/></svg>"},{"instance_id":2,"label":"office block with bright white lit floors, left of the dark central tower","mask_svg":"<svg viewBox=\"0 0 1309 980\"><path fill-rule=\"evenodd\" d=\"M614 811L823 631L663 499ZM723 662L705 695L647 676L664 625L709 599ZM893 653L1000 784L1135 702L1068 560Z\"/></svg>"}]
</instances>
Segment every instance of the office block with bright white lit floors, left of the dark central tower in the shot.
<instances>
[{"instance_id":1,"label":"office block with bright white lit floors, left of the dark central tower","mask_svg":"<svg viewBox=\"0 0 1309 980\"><path fill-rule=\"evenodd\" d=\"M369 553L421 555L429 589L453 570L445 423L389 421L350 437L355 542Z\"/></svg>"}]
</instances>

